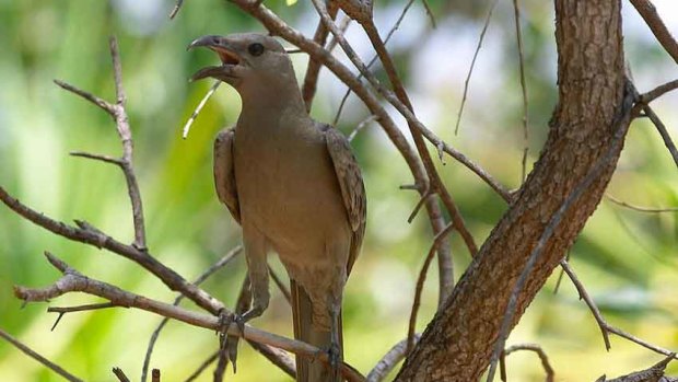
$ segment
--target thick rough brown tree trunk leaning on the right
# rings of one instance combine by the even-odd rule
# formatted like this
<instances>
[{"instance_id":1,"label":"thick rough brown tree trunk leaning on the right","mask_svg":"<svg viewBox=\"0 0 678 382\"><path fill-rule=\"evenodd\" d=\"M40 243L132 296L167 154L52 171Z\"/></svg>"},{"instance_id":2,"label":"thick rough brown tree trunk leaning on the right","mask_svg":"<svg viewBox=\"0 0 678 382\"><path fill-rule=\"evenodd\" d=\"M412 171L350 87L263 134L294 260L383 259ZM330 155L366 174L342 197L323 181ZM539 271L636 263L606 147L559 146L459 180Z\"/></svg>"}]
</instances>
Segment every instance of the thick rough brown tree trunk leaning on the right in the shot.
<instances>
[{"instance_id":1,"label":"thick rough brown tree trunk leaning on the right","mask_svg":"<svg viewBox=\"0 0 678 382\"><path fill-rule=\"evenodd\" d=\"M547 142L516 200L426 327L396 381L477 381L487 369L511 292L530 253L568 196L608 152L620 128L626 83L620 11L619 0L556 0L559 103ZM546 241L518 294L511 327L596 209L621 147L616 147L612 160Z\"/></svg>"}]
</instances>

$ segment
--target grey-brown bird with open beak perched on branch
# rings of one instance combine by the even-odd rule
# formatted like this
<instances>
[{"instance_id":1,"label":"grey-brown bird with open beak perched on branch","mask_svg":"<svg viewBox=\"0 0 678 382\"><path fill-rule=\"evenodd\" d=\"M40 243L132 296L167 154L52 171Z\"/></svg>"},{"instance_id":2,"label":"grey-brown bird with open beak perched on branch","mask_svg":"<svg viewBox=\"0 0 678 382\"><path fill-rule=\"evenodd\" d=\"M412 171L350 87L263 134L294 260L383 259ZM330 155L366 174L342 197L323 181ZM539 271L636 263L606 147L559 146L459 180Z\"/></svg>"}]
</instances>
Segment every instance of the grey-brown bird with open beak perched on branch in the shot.
<instances>
[{"instance_id":1,"label":"grey-brown bird with open beak perched on branch","mask_svg":"<svg viewBox=\"0 0 678 382\"><path fill-rule=\"evenodd\" d=\"M343 288L365 234L361 167L347 138L307 113L292 61L272 36L208 35L189 48L217 53L219 66L191 80L213 78L234 88L242 109L235 127L214 140L219 200L243 231L250 280L247 322L267 309L267 254L291 280L294 336L328 351L331 368L296 357L297 380L339 380Z\"/></svg>"}]
</instances>

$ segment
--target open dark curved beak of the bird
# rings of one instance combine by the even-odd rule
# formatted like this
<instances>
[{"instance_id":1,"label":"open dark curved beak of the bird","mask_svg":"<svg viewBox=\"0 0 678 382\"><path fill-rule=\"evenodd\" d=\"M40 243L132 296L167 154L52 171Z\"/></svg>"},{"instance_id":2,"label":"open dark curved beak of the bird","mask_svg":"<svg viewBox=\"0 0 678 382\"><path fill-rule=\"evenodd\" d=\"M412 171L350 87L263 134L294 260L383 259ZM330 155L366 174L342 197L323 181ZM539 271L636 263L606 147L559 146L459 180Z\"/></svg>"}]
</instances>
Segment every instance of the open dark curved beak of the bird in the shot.
<instances>
[{"instance_id":1,"label":"open dark curved beak of the bird","mask_svg":"<svg viewBox=\"0 0 678 382\"><path fill-rule=\"evenodd\" d=\"M222 36L202 36L195 39L186 50L190 50L197 47L206 47L219 55L221 59L221 66L211 66L198 70L191 78L191 81L200 80L203 78L212 77L220 80L234 77L233 68L238 66L242 61L241 56L234 47L234 44L226 37Z\"/></svg>"}]
</instances>

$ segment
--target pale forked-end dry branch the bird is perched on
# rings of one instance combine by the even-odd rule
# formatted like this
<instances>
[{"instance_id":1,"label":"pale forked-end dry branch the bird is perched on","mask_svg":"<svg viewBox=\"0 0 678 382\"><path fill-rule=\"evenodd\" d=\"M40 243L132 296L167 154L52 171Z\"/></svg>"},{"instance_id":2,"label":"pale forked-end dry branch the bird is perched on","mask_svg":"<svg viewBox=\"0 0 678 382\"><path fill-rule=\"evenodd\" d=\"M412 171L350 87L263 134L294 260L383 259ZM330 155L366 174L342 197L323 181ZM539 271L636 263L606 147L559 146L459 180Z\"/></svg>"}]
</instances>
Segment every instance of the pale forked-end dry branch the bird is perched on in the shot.
<instances>
[{"instance_id":1,"label":"pale forked-end dry branch the bird is perched on","mask_svg":"<svg viewBox=\"0 0 678 382\"><path fill-rule=\"evenodd\" d=\"M63 276L55 283L46 288L38 289L15 286L14 294L16 298L24 300L25 302L38 302L48 301L69 292L83 292L92 296L98 296L124 306L156 313L189 325L203 327L211 331L223 328L219 317L212 314L189 311L184 308L174 306L162 301L149 299L147 297L122 290L110 283L82 275L50 253L45 253L45 256L55 268L59 269L63 274ZM243 333L241 333L238 325L235 323L232 323L226 332L230 335L241 336L247 340L254 340L278 347L297 354L302 357L320 360L323 363L329 364L329 357L326 351L300 340L265 332L248 324L245 324L245 331ZM364 381L364 377L362 377L360 372L344 362L341 362L340 371L349 381Z\"/></svg>"}]
</instances>

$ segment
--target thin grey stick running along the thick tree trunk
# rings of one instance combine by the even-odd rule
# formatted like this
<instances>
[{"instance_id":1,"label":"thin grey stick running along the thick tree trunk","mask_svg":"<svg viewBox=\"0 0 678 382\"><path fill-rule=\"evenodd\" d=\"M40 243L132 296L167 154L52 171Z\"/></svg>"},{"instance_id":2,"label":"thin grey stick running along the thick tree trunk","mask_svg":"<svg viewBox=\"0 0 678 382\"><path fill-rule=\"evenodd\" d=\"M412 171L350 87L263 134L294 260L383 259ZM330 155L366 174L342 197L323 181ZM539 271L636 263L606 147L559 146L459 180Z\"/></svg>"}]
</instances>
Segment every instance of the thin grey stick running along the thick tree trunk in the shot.
<instances>
[{"instance_id":1,"label":"thin grey stick running along the thick tree trunk","mask_svg":"<svg viewBox=\"0 0 678 382\"><path fill-rule=\"evenodd\" d=\"M508 303L506 305L506 310L502 320L501 328L499 332L499 338L494 345L494 350L492 351L492 359L490 363L490 370L488 371L488 382L492 382L494 379L494 373L496 371L496 362L499 361L499 357L504 350L504 346L506 343L506 337L508 335L510 327L513 323L513 316L515 314L516 305L518 302L518 294L523 290L525 282L527 282L527 278L531 273L535 264L537 263L537 258L543 252L543 247L547 244L547 241L553 235L553 232L560 224L561 219L565 215L565 212L570 209L570 206L575 202L580 196L591 186L591 184L597 178L600 171L608 165L609 161L615 157L617 150L621 147L623 141L623 137L626 136L630 121L631 115L635 112L634 103L638 99L638 92L633 88L633 84L627 80L624 99L621 103L621 109L615 120L612 121L612 127L616 128L615 135L611 137L609 147L605 151L605 153L596 160L595 164L591 167L591 171L584 176L584 178L574 187L572 193L568 195L568 197L563 200L560 208L553 213L553 216L549 219L546 224L543 232L539 236L539 241L537 245L529 254L529 258L525 264L525 267L521 271L521 276L518 277L513 290L511 292L511 298L508 299Z\"/></svg>"}]
</instances>

